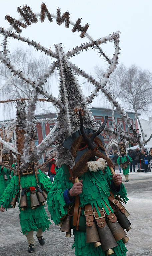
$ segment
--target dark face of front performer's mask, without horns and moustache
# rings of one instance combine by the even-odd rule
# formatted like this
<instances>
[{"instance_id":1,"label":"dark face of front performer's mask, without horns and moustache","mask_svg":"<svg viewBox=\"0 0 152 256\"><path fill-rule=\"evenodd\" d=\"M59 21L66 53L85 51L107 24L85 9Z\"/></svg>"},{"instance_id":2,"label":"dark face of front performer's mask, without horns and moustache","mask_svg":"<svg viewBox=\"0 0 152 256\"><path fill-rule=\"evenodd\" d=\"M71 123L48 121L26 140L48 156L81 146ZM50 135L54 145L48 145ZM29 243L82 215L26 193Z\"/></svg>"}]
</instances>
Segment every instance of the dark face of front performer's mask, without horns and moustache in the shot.
<instances>
[{"instance_id":1,"label":"dark face of front performer's mask, without horns and moustache","mask_svg":"<svg viewBox=\"0 0 152 256\"><path fill-rule=\"evenodd\" d=\"M83 129L84 133L86 135L91 135L93 134L95 131L93 131L92 129ZM89 137L89 136L88 136ZM100 148L99 144L102 144L102 146L104 145L104 141L103 141L103 136L101 134L99 134L97 137L95 137L94 139L94 145L96 147L98 147L99 152L101 152L102 154L104 154L106 156L105 151L103 151ZM73 133L64 143L63 146L65 148L67 148L69 151L71 151L73 157L74 157L74 161L75 163L77 163L79 161L79 159L89 150L87 143L84 141L82 135L81 135L81 131L78 130L75 133Z\"/></svg>"}]
</instances>

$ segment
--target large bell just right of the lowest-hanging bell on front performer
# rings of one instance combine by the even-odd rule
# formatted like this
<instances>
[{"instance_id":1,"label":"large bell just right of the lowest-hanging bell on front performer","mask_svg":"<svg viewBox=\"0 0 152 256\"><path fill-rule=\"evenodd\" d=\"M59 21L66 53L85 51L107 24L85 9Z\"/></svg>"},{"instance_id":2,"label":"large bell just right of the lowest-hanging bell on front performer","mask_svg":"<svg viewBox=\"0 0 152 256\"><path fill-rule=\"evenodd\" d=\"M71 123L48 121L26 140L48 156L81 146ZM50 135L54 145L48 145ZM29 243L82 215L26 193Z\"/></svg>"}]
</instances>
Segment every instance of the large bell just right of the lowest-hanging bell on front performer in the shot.
<instances>
[{"instance_id":1,"label":"large bell just right of the lowest-hanging bell on front performer","mask_svg":"<svg viewBox=\"0 0 152 256\"><path fill-rule=\"evenodd\" d=\"M123 228L120 226L118 221L111 222L110 220L107 221L107 224L115 238L116 241L119 241L120 239L124 238L126 236L126 232L123 230Z\"/></svg>"}]
</instances>

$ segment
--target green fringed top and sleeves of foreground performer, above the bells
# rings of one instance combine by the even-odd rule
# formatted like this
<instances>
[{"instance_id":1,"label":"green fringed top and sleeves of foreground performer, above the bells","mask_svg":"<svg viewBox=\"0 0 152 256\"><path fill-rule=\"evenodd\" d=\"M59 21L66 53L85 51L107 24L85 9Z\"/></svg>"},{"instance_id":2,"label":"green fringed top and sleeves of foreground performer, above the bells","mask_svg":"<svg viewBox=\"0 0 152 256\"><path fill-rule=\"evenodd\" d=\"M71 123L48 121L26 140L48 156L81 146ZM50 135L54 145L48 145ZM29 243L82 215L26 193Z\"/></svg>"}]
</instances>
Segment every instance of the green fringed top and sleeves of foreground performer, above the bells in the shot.
<instances>
[{"instance_id":1,"label":"green fringed top and sleeves of foreground performer, above the bells","mask_svg":"<svg viewBox=\"0 0 152 256\"><path fill-rule=\"evenodd\" d=\"M51 214L51 219L53 219L55 224L60 223L60 218L67 214L67 205L65 204L63 192L72 187L72 182L68 182L65 169L67 170L67 166L64 164L61 168L58 169L57 174L54 177L54 181L52 184L51 191L48 193L47 204L48 210ZM83 189L80 196L80 206L83 207L86 204L91 204L91 206L95 206L96 211L100 217L100 213L97 205L100 208L104 208L106 213L109 214L109 211L105 205L105 203L110 208L111 212L113 209L111 208L108 196L110 195L110 185L112 181L112 174L108 167L105 168L104 174L101 170L98 172L85 172L81 178L83 180ZM116 192L113 192L117 194ZM120 196L123 200L127 201L127 193L124 188L124 185L121 185L121 190L119 192ZM104 203L105 202L105 203Z\"/></svg>"}]
</instances>

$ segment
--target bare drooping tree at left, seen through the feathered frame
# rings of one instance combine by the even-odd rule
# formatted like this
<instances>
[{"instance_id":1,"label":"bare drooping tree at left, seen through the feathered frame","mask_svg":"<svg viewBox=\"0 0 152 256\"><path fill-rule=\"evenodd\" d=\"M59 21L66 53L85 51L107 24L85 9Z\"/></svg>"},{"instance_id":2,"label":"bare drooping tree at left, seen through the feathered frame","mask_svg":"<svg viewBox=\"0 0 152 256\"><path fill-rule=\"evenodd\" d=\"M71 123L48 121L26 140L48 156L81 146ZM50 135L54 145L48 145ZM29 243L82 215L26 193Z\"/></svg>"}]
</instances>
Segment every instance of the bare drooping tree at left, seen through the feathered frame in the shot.
<instances>
[{"instance_id":1,"label":"bare drooping tree at left, seen through the feathered frame","mask_svg":"<svg viewBox=\"0 0 152 256\"><path fill-rule=\"evenodd\" d=\"M9 54L8 54L9 57ZM44 74L45 70L50 66L49 59L46 56L35 58L30 49L16 48L11 54L11 62L27 74L33 81L36 81L38 77ZM51 91L51 79L46 84L46 89ZM1 99L15 99L15 98L31 98L32 89L29 85L23 82L21 79L17 79L17 76L13 76L9 69L1 63L0 65L0 98ZM44 110L45 103L37 103L41 109ZM12 111L12 106L7 106ZM6 112L6 106L5 106Z\"/></svg>"}]
</instances>

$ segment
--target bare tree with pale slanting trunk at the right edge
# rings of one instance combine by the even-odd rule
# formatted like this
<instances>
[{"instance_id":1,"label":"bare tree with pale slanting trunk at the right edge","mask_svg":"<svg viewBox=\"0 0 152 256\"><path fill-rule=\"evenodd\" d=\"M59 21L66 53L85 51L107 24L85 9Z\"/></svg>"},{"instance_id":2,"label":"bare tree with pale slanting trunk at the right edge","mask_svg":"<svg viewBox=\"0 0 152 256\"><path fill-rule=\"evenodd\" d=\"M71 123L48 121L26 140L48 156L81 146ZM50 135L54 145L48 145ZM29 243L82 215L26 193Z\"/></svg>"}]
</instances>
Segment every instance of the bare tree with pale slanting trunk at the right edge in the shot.
<instances>
[{"instance_id":1,"label":"bare tree with pale slanting trunk at the right edge","mask_svg":"<svg viewBox=\"0 0 152 256\"><path fill-rule=\"evenodd\" d=\"M135 112L135 119L138 119L143 141L146 144L151 138L145 141L144 131L139 119L140 111L148 111L151 104L152 95L152 74L148 70L142 70L140 67L132 65L130 68L121 66L121 81L119 81L120 94L118 97L123 99L123 102L130 110Z\"/></svg>"}]
</instances>

